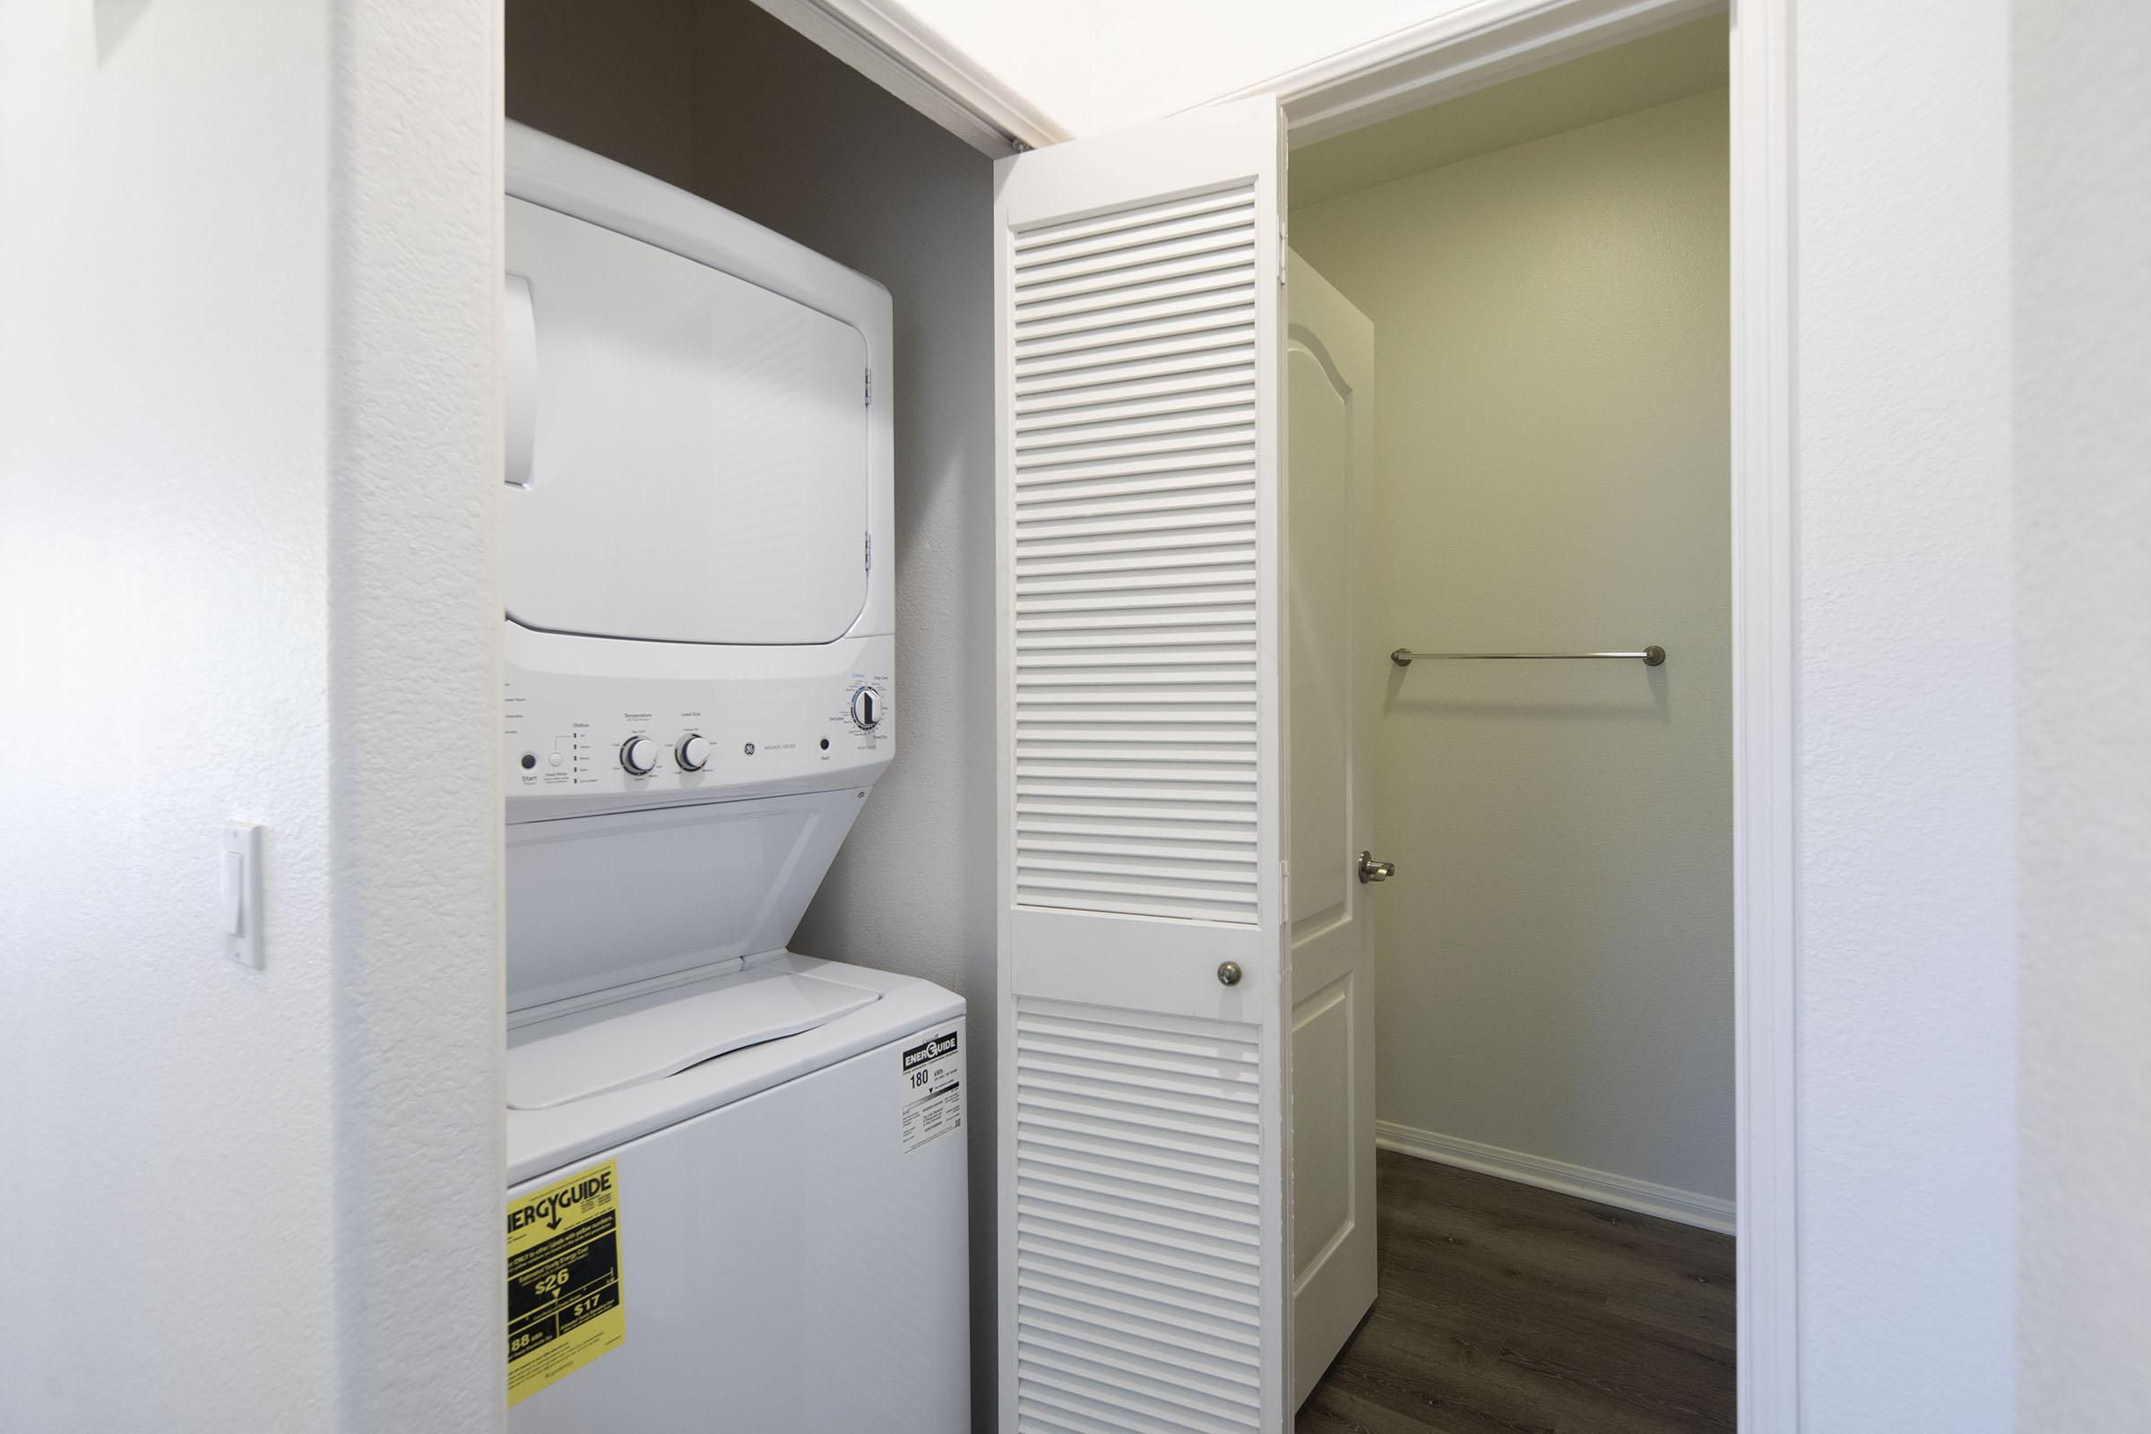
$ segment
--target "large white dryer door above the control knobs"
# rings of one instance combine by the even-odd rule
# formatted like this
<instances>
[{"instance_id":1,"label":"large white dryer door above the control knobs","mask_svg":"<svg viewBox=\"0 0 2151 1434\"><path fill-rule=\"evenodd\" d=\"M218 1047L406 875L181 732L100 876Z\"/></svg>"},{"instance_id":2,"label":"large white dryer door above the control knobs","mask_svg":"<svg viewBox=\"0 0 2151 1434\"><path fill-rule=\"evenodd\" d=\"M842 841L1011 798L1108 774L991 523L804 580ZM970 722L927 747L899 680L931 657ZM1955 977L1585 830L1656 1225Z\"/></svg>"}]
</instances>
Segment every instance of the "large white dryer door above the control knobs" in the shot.
<instances>
[{"instance_id":1,"label":"large white dryer door above the control knobs","mask_svg":"<svg viewBox=\"0 0 2151 1434\"><path fill-rule=\"evenodd\" d=\"M508 615L667 643L843 636L867 602L865 335L518 198L508 273Z\"/></svg>"}]
</instances>

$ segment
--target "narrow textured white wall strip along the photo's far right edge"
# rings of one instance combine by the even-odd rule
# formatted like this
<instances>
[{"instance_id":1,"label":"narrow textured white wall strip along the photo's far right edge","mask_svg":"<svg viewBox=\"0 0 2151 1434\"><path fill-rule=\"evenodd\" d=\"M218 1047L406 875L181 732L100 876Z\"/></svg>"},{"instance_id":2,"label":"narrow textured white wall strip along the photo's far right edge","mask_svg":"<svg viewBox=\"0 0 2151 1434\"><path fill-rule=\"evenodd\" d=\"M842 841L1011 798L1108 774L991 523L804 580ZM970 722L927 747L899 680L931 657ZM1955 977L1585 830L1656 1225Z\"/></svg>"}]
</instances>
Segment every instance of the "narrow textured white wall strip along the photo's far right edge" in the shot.
<instances>
[{"instance_id":1,"label":"narrow textured white wall strip along the photo's far right edge","mask_svg":"<svg viewBox=\"0 0 2151 1434\"><path fill-rule=\"evenodd\" d=\"M2020 0L2022 1430L2151 1408L2151 6Z\"/></svg>"}]
</instances>

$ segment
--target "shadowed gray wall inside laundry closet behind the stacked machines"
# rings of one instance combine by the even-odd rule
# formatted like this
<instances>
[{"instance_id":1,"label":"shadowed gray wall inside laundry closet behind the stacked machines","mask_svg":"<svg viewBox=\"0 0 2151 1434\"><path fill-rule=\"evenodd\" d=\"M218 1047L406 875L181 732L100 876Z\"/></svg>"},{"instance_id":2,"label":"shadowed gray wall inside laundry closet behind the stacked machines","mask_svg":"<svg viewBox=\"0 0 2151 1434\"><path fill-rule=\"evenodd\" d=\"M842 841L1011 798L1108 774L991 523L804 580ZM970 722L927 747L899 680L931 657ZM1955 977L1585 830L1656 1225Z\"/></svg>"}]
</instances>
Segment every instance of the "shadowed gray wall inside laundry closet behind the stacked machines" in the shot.
<instances>
[{"instance_id":1,"label":"shadowed gray wall inside laundry closet behind the stacked machines","mask_svg":"<svg viewBox=\"0 0 2151 1434\"><path fill-rule=\"evenodd\" d=\"M992 161L744 0L512 0L508 114L895 299L901 742L792 946L970 1000L972 1387L992 1428Z\"/></svg>"}]
</instances>

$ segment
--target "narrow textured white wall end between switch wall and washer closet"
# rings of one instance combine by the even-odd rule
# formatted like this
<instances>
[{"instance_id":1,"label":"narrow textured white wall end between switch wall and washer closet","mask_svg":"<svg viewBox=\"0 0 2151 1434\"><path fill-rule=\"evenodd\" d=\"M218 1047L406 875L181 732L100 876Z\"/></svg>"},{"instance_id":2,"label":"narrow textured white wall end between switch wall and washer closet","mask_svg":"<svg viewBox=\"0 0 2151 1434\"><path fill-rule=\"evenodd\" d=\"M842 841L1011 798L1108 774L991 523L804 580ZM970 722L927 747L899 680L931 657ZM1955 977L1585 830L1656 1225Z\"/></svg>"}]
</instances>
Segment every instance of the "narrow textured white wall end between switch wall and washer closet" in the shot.
<instances>
[{"instance_id":1,"label":"narrow textured white wall end between switch wall and washer closet","mask_svg":"<svg viewBox=\"0 0 2151 1434\"><path fill-rule=\"evenodd\" d=\"M460 1434L505 1421L499 9L331 11L340 1402Z\"/></svg>"}]
</instances>

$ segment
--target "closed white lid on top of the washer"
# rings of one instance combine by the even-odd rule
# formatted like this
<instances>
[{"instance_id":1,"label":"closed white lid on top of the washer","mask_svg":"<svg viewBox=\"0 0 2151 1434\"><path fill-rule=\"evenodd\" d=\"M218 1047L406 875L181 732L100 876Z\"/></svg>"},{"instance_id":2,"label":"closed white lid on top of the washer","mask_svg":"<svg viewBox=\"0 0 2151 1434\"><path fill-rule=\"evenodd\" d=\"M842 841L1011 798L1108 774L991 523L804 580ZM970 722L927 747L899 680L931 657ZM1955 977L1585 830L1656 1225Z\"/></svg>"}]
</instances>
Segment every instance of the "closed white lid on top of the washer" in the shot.
<instances>
[{"instance_id":1,"label":"closed white lid on top of the washer","mask_svg":"<svg viewBox=\"0 0 2151 1434\"><path fill-rule=\"evenodd\" d=\"M880 1000L783 970L746 970L508 1032L508 1109L551 1109L641 1086Z\"/></svg>"}]
</instances>

